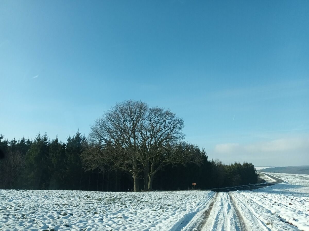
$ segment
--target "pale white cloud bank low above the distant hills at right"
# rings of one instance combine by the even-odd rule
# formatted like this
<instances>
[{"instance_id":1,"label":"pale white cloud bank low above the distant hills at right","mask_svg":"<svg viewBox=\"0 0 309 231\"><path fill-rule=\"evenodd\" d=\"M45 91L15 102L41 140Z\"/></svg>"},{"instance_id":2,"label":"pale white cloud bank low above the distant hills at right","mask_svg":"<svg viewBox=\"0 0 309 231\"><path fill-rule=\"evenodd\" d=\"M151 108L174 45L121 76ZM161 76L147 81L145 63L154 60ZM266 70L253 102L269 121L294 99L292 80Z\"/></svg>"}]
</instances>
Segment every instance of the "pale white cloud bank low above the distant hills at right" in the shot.
<instances>
[{"instance_id":1,"label":"pale white cloud bank low above the distant hills at right","mask_svg":"<svg viewBox=\"0 0 309 231\"><path fill-rule=\"evenodd\" d=\"M293 166L309 164L309 137L282 138L254 144L217 144L210 158L225 163L247 161L258 165Z\"/></svg>"}]
</instances>

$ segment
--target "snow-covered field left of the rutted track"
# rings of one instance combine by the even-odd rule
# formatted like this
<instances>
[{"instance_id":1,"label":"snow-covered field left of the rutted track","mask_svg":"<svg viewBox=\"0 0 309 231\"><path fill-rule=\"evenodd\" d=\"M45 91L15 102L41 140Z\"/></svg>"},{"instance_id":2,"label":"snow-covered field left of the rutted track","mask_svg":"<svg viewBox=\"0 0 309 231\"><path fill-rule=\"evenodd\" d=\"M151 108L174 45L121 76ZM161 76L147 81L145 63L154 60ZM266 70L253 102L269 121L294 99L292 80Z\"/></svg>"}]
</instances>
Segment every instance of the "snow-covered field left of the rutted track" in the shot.
<instances>
[{"instance_id":1,"label":"snow-covered field left of the rutted track","mask_svg":"<svg viewBox=\"0 0 309 231\"><path fill-rule=\"evenodd\" d=\"M0 190L0 230L179 230L213 194Z\"/></svg>"}]
</instances>

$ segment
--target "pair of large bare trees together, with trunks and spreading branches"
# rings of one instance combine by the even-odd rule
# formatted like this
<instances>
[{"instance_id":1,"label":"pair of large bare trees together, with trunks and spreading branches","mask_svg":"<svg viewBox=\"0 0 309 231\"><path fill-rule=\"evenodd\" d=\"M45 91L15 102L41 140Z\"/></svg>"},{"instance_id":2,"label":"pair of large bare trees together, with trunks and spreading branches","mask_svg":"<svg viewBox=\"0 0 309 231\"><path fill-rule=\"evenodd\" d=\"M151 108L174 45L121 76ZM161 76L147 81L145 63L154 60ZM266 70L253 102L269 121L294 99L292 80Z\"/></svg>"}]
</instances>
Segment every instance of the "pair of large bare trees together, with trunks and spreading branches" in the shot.
<instances>
[{"instance_id":1,"label":"pair of large bare trees together, with trunks and spreading branches","mask_svg":"<svg viewBox=\"0 0 309 231\"><path fill-rule=\"evenodd\" d=\"M131 173L134 191L139 190L138 175L143 171L144 191L148 191L155 173L165 165L198 162L189 152L177 149L185 147L180 144L183 127L183 119L170 109L133 100L117 103L91 125L92 149L83 159L89 159L86 166L110 164Z\"/></svg>"}]
</instances>

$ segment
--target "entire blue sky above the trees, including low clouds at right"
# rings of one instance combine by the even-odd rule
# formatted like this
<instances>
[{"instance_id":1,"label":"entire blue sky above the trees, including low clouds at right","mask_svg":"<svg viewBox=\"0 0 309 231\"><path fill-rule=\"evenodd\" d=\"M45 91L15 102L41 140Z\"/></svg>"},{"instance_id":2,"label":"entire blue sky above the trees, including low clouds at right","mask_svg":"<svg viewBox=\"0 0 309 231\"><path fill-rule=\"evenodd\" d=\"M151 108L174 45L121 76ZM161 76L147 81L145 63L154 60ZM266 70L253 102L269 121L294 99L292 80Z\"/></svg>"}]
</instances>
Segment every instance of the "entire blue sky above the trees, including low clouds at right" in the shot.
<instances>
[{"instance_id":1,"label":"entire blue sky above the trees, including low clouds at right","mask_svg":"<svg viewBox=\"0 0 309 231\"><path fill-rule=\"evenodd\" d=\"M169 107L209 158L309 164L309 1L0 1L0 133Z\"/></svg>"}]
</instances>

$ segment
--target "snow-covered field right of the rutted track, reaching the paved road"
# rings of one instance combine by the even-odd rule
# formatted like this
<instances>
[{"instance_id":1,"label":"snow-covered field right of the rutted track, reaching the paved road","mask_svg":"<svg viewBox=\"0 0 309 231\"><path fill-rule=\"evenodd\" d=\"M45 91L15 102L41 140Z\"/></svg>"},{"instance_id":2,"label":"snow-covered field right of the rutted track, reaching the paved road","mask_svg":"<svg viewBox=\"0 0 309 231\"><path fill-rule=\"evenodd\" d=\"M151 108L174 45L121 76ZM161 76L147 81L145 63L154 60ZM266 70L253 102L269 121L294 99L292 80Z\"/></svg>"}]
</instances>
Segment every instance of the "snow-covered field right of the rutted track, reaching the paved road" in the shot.
<instances>
[{"instance_id":1,"label":"snow-covered field right of the rutted track, reaching the paved road","mask_svg":"<svg viewBox=\"0 0 309 231\"><path fill-rule=\"evenodd\" d=\"M295 230L309 230L309 175L269 173L284 180L283 183L256 189L235 192L235 197L280 230L289 222ZM288 225L290 229L294 229Z\"/></svg>"}]
</instances>

